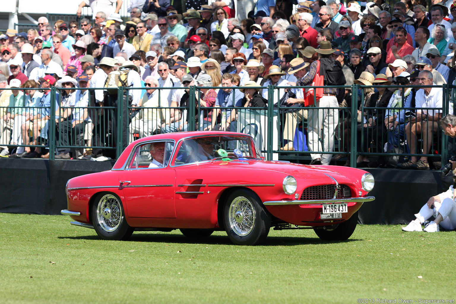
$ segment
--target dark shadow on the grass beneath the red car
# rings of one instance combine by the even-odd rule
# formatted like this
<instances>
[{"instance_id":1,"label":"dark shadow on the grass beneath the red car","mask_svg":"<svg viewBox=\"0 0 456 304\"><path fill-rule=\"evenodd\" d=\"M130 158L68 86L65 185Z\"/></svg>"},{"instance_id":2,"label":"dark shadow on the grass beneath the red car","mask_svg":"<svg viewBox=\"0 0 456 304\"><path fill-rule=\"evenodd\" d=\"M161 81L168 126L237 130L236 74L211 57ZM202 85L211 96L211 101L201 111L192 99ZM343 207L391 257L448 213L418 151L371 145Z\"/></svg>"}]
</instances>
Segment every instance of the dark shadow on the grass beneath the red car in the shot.
<instances>
[{"instance_id":1,"label":"dark shadow on the grass beneath the red car","mask_svg":"<svg viewBox=\"0 0 456 304\"><path fill-rule=\"evenodd\" d=\"M78 237L58 237L60 239L72 240L100 240L96 235ZM348 239L345 241L323 241L318 237L267 237L257 246L298 246L318 245L363 241L362 239ZM228 236L212 235L210 237L186 237L179 234L164 233L141 233L135 232L127 242L154 242L154 243L176 243L176 244L205 244L205 245L234 245Z\"/></svg>"}]
</instances>

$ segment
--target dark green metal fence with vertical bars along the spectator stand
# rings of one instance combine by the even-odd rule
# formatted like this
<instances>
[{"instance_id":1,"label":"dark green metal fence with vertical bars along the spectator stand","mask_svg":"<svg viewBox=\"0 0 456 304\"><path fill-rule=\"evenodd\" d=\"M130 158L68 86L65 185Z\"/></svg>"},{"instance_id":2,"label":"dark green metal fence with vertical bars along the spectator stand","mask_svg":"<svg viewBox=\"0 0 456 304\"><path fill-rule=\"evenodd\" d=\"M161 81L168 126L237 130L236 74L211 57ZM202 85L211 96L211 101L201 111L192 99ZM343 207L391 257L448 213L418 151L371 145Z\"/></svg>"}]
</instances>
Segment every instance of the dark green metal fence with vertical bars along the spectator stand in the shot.
<instances>
[{"instance_id":1,"label":"dark green metal fence with vertical bars along the spectator stand","mask_svg":"<svg viewBox=\"0 0 456 304\"><path fill-rule=\"evenodd\" d=\"M379 86L373 86L373 88L378 87ZM394 89L420 88L403 86L383 87ZM443 107L434 109L441 110L443 117L448 113L450 107L454 106L453 101L456 98L456 90L452 90L452 86L449 84L435 87L442 88ZM14 137L11 135L11 133L14 134L12 129L14 126L10 123L10 134L2 135L0 146L14 145L49 149L49 151L52 151L49 157L50 160L54 159L54 151L71 150L73 157L76 159L75 156L80 155L78 153L82 153L83 149L111 150L112 155L118 157L124 148L133 140L151 134L178 130L194 131L212 129L212 126L214 126L214 129L221 129L223 123L222 113L224 113L224 111L235 110L237 118L235 122L230 125L230 130L251 134L268 160L280 159L305 162L311 160L311 155L319 154L321 157L323 157L323 155L347 155L347 160L349 160L349 164L352 167L357 166L357 158L360 155L366 155L372 160L377 157L395 158L396 162L399 158L407 159L412 156L428 156L432 160L442 161L442 163L444 163L448 158L449 150L454 150L454 141L451 141L449 144L448 137L442 136L443 133L438 127L437 122L435 122L437 128L432 127L431 129L423 129L419 132L422 134L430 134L427 139L432 139L431 145L428 147L429 149L423 150L423 147L427 146L427 142L423 140L423 136L420 134L415 135L413 132L408 132L409 134L407 134L406 125L410 116L405 116L407 112L420 111L421 109L417 107L406 107L404 104L404 96L401 97L401 104L395 108L364 107L363 88L368 87L358 84L354 84L351 87L339 87L342 89L351 89L351 91L354 92L350 97L351 99L346 100L348 106L342 107L337 105L335 107L316 107L316 104L314 104L313 106L306 108L284 107L280 106L280 102L274 104L273 100L278 100L280 98L273 98L273 94L279 94L278 88L315 89L318 87L257 87L260 90L268 90L268 96L270 96L270 98L267 107L264 108L202 107L198 104L199 101L196 100L196 90L202 88L204 89L205 87L189 87L188 106L183 107L179 104L177 107L170 107L167 103L160 104L160 107L132 107L129 98L127 97L128 93L131 90L145 90L146 88L123 87L118 89L117 95L105 97L105 101L110 101L105 103L104 107L98 106L93 99L94 94L88 94L89 102L87 106L64 107L62 106L62 96L65 95L62 93L63 89L52 87L49 94L51 94L51 100L57 100L57 105L56 103L51 103L49 106L47 125L45 127L43 126L44 129L47 130L47 136L44 136L44 140L39 140L38 137L43 136L37 135L43 134L43 131L33 130L33 127L31 131L25 135L27 138L23 139L23 144L14 141L11 142ZM220 87L210 88L222 90ZM233 88L237 89L236 87ZM81 88L74 89L82 90ZM167 90L183 88L157 89L158 98L160 99L161 94L167 94ZM26 89L20 90L24 95L27 93ZM88 92L97 90L104 90L104 88L90 88ZM357 92L359 90L361 90L360 98L363 100L361 103L358 102L359 97ZM18 115L21 116L22 113L27 111L37 111L42 108L43 107L36 107L33 105L26 106L24 103L19 107L8 106L0 109L3 113L16 111L15 113L18 113ZM430 109L431 108L426 108L422 110ZM74 126L70 123L72 116L68 115L67 117L63 117L65 115L62 114L69 110L72 110L73 114L81 114L84 112L83 115L90 117L91 121L84 122L84 128L78 126L75 130ZM214 110L218 110L219 113L217 116L215 115L216 112ZM359 114L358 110L360 111ZM383 113L388 110L394 110L393 115L396 115L401 121L404 119L404 123L399 124L397 128L388 129L384 124L384 117L382 116ZM171 112L174 115L178 115L178 118L174 119L174 129L171 128L171 124L166 124L167 119L171 118ZM315 115L317 113L326 113L326 116ZM331 130L332 127L328 128L328 126L323 124L323 120L328 115L332 116L333 119L333 133ZM364 121L362 121L364 118L368 120L377 115L379 124L376 128L374 128L372 124L365 124ZM358 122L359 116L361 116L361 122ZM418 116L420 116L420 114L418 114ZM312 118L314 121L312 121ZM4 119L4 121L6 120ZM19 121L22 124L22 121ZM30 124L30 122L28 124ZM426 123L426 125L426 128L430 128L429 126L432 126L432 122ZM182 126L181 129L179 129L180 126ZM0 130L3 132L2 134L5 134L5 128L8 129L5 122L2 122L0 127L3 128ZM17 129L22 128L16 126L16 130ZM330 130L329 133L327 131L328 129ZM410 136L413 136L413 141L416 143L416 150L408 151L409 144L412 141L412 137ZM281 149L281 147L287 145L287 141L293 142L293 150ZM26 144L29 142L30 144ZM316 149L316 147L319 148ZM327 147L332 148L327 149ZM345 158L341 160L345 160Z\"/></svg>"}]
</instances>

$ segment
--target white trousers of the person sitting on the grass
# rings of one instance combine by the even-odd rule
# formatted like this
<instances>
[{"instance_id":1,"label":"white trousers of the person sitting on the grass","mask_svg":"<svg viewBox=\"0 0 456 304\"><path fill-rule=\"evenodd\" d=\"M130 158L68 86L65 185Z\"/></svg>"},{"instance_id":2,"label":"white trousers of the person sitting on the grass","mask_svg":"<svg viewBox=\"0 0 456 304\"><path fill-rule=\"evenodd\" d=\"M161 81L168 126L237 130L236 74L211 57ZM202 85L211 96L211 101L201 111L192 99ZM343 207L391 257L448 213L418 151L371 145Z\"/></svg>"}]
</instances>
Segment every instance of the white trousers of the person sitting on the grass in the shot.
<instances>
[{"instance_id":1,"label":"white trousers of the person sitting on the grass","mask_svg":"<svg viewBox=\"0 0 456 304\"><path fill-rule=\"evenodd\" d=\"M438 213L443 217L443 221L439 223L441 227L446 230L456 228L456 202L451 198L446 198L441 203L435 202L434 209L429 209L425 204L415 216L423 224L431 216L437 217Z\"/></svg>"}]
</instances>

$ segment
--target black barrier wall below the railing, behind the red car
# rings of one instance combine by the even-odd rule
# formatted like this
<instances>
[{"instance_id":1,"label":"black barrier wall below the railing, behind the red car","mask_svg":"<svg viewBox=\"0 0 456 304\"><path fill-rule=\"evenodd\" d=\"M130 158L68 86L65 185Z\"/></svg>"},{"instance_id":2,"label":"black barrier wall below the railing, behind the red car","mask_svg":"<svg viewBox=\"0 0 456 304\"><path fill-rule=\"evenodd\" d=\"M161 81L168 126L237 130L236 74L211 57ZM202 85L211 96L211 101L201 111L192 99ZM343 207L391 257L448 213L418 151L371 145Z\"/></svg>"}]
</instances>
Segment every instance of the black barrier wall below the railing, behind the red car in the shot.
<instances>
[{"instance_id":1,"label":"black barrier wall below the railing, behind the red car","mask_svg":"<svg viewBox=\"0 0 456 304\"><path fill-rule=\"evenodd\" d=\"M110 170L114 161L2 159L0 172L0 212L60 214L67 208L67 180L84 174ZM375 201L364 203L359 211L361 224L403 224L415 218L430 196L446 190L439 171L367 169L375 178L370 195ZM96 181L94 181L96 183ZM69 218L68 218L69 220Z\"/></svg>"}]
</instances>

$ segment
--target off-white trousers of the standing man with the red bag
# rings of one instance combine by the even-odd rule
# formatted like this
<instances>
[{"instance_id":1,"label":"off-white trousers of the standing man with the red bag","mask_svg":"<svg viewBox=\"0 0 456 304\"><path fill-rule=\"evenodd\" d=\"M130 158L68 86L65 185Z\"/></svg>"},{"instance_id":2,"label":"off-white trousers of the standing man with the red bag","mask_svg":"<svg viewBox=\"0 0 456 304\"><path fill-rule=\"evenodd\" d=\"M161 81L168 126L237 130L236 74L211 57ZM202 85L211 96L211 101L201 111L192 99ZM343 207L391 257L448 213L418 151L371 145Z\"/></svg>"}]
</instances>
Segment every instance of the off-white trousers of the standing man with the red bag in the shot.
<instances>
[{"instance_id":1,"label":"off-white trousers of the standing man with the red bag","mask_svg":"<svg viewBox=\"0 0 456 304\"><path fill-rule=\"evenodd\" d=\"M307 133L309 136L309 149L311 151L332 152L334 147L334 130L339 124L339 104L335 96L323 96L316 103L317 108L334 109L312 109L308 108ZM323 139L321 147L320 138ZM331 154L311 154L312 160L321 158L321 165L329 165Z\"/></svg>"}]
</instances>

